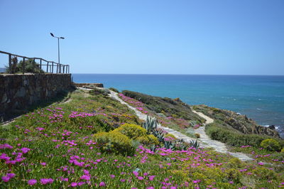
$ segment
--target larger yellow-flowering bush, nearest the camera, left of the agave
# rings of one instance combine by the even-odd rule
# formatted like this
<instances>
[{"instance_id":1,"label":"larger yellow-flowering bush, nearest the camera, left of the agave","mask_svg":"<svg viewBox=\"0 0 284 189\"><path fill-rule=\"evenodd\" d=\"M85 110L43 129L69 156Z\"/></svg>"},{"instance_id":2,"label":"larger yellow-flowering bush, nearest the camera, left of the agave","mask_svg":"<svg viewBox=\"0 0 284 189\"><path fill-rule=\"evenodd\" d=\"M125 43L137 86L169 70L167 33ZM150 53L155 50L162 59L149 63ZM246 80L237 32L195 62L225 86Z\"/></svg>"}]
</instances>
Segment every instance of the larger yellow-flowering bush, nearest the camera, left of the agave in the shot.
<instances>
[{"instance_id":1,"label":"larger yellow-flowering bush, nearest the camera, left of the agave","mask_svg":"<svg viewBox=\"0 0 284 189\"><path fill-rule=\"evenodd\" d=\"M105 153L121 153L132 156L135 152L131 139L119 132L99 132L94 134L94 140L97 141L99 150Z\"/></svg>"}]
</instances>

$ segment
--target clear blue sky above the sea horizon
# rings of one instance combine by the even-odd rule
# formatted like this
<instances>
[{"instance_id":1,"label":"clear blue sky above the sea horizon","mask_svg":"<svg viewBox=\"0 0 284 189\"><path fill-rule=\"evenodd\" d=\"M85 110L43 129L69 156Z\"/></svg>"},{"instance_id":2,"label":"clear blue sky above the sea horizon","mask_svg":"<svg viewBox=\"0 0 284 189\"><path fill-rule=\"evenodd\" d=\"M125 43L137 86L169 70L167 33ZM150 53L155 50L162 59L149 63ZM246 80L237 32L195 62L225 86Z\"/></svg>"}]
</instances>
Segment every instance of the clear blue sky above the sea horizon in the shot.
<instances>
[{"instance_id":1,"label":"clear blue sky above the sea horizon","mask_svg":"<svg viewBox=\"0 0 284 189\"><path fill-rule=\"evenodd\" d=\"M53 32L73 73L284 75L283 0L0 0L0 18L0 50L57 61Z\"/></svg>"}]
</instances>

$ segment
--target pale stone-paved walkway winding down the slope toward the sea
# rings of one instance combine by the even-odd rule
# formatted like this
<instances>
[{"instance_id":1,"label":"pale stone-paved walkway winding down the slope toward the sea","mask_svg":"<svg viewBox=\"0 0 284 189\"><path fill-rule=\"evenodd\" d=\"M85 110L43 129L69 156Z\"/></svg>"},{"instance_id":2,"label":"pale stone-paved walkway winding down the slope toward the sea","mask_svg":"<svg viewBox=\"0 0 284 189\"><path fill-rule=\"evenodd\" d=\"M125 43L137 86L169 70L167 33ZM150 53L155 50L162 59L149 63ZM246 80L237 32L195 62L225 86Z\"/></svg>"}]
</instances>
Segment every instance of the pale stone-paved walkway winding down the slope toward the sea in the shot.
<instances>
[{"instance_id":1,"label":"pale stone-paved walkway winding down the slope toward the sea","mask_svg":"<svg viewBox=\"0 0 284 189\"><path fill-rule=\"evenodd\" d=\"M143 114L142 112L138 111L138 109L136 109L134 107L131 107L129 104L124 102L121 98L118 97L116 92L113 92L111 90L110 90L110 92L111 92L111 94L109 94L110 97L113 97L114 99L116 99L119 102L121 102L121 104L126 104L127 107L129 107L130 109L133 109L133 111L136 113L136 115L139 117L139 119L146 120L146 118L147 118L146 114ZM206 124L211 124L214 121L213 119L211 119L210 117L205 116L201 112L195 112L195 111L192 111L192 112L194 112L195 114L198 114L200 117L206 119L205 125ZM175 131L175 130L170 129L170 128L165 127L165 126L161 126L160 124L158 124L158 128L163 129L163 130L167 131L170 134L173 134L177 139L183 139L187 143L190 142L191 140L195 140L195 139L190 138L189 136L181 134L178 131ZM204 129L205 129L205 126L200 126L200 128L195 130L196 133L200 134L200 141L202 142L200 144L200 146L202 146L202 147L212 147L216 151L221 152L221 153L229 153L231 156L239 158L241 161L253 160L253 158L250 158L249 156L246 156L246 154L244 154L244 153L229 152L224 143L222 143L220 141L214 141L214 140L210 139L209 136L207 136L207 134L205 133Z\"/></svg>"}]
</instances>

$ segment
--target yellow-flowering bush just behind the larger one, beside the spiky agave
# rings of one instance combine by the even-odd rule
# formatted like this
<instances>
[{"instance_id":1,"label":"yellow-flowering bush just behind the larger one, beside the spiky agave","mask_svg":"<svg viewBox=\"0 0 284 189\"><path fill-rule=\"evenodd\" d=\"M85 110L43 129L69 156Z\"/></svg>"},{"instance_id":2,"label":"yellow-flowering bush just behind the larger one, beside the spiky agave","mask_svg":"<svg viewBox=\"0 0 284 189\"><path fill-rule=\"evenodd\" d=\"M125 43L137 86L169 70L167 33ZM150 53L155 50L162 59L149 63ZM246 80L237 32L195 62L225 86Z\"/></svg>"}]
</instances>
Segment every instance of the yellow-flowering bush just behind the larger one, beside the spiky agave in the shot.
<instances>
[{"instance_id":1,"label":"yellow-flowering bush just behind the larger one, beside the spiky agave","mask_svg":"<svg viewBox=\"0 0 284 189\"><path fill-rule=\"evenodd\" d=\"M112 132L119 132L121 134L125 134L130 139L136 139L139 136L147 135L146 129L136 124L123 124L119 128L114 129L114 131Z\"/></svg>"}]
</instances>

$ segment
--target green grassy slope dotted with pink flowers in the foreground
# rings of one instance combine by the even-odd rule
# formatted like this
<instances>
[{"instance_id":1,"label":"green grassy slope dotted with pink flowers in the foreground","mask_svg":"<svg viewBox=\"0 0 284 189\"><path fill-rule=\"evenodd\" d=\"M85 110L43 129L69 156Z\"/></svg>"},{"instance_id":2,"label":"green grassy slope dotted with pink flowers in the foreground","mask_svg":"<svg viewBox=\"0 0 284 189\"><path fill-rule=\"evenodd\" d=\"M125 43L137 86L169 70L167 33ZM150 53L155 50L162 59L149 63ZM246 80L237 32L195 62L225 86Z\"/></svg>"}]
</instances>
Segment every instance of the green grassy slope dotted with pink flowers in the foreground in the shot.
<instances>
[{"instance_id":1,"label":"green grassy slope dotted with pink flowers in the foreground","mask_svg":"<svg viewBox=\"0 0 284 189\"><path fill-rule=\"evenodd\" d=\"M0 188L283 186L283 163L242 163L206 148L152 152L140 145L133 156L101 153L94 133L141 120L102 94L75 91L70 97L0 128Z\"/></svg>"}]
</instances>

